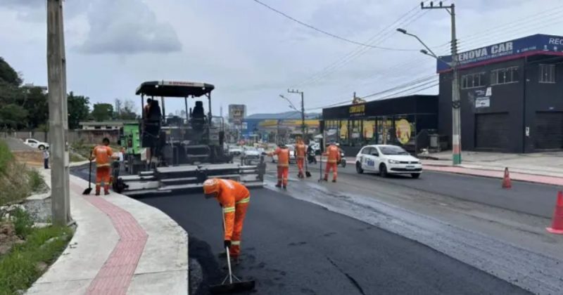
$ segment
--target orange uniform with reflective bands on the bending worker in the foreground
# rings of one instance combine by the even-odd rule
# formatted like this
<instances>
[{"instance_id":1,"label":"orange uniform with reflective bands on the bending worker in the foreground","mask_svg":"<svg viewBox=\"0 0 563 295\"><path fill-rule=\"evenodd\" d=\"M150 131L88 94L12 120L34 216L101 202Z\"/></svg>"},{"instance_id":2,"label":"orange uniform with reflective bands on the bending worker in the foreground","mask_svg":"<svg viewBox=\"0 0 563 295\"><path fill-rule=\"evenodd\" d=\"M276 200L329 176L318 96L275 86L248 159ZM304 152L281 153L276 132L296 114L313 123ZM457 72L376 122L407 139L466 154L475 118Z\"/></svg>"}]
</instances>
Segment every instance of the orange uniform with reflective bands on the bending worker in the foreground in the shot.
<instances>
[{"instance_id":1,"label":"orange uniform with reflective bands on the bending worker in the foreground","mask_svg":"<svg viewBox=\"0 0 563 295\"><path fill-rule=\"evenodd\" d=\"M246 186L230 179L219 179L219 193L217 201L223 207L224 240L231 240L234 230L234 216L236 205L247 204L251 200L251 193Z\"/></svg>"}]
</instances>

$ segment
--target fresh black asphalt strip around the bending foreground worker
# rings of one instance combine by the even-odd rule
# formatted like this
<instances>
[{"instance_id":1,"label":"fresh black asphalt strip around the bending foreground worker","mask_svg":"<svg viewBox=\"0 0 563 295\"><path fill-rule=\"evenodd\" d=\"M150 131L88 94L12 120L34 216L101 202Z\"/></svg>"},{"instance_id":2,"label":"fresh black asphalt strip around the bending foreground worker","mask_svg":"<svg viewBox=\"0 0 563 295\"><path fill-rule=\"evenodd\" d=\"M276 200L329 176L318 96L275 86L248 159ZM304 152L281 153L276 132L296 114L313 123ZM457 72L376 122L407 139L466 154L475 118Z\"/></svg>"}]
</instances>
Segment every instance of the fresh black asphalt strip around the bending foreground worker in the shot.
<instances>
[{"instance_id":1,"label":"fresh black asphalt strip around the bending foreground worker","mask_svg":"<svg viewBox=\"0 0 563 295\"><path fill-rule=\"evenodd\" d=\"M224 275L217 202L199 193L140 200L189 232L189 256L204 275L198 294L207 294ZM257 294L526 293L423 244L269 189L251 191L242 248L235 271L256 280Z\"/></svg>"}]
</instances>

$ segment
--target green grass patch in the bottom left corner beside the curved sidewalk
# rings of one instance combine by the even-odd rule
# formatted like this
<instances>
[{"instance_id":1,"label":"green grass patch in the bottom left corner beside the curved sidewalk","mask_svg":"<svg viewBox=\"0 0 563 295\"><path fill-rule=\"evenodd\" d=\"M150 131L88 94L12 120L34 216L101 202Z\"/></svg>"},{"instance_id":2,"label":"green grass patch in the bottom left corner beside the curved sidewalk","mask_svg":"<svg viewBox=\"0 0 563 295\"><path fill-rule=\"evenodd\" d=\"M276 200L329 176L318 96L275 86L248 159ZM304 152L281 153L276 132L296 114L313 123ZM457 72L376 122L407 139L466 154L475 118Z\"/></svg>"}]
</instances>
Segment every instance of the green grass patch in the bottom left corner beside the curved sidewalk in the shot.
<instances>
[{"instance_id":1,"label":"green grass patch in the bottom left corner beside the curved sidewalk","mask_svg":"<svg viewBox=\"0 0 563 295\"><path fill-rule=\"evenodd\" d=\"M30 228L23 244L16 244L0 257L0 294L19 294L31 287L45 271L41 265L53 263L72 237L66 227Z\"/></svg>"}]
</instances>

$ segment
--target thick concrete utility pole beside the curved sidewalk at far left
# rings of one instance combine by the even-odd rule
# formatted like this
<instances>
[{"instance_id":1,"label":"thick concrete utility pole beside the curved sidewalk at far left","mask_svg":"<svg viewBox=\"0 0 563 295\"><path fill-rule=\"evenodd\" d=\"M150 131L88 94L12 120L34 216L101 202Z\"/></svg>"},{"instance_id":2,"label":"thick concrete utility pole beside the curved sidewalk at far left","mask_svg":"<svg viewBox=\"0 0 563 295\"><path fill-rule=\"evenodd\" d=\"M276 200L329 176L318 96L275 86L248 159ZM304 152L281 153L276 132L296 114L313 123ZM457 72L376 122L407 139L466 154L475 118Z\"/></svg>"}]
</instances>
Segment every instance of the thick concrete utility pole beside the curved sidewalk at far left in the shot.
<instances>
[{"instance_id":1,"label":"thick concrete utility pole beside the curved sidewalk at far left","mask_svg":"<svg viewBox=\"0 0 563 295\"><path fill-rule=\"evenodd\" d=\"M49 78L49 145L53 223L70 222L68 111L63 34L63 0L47 0L47 74Z\"/></svg>"}]
</instances>

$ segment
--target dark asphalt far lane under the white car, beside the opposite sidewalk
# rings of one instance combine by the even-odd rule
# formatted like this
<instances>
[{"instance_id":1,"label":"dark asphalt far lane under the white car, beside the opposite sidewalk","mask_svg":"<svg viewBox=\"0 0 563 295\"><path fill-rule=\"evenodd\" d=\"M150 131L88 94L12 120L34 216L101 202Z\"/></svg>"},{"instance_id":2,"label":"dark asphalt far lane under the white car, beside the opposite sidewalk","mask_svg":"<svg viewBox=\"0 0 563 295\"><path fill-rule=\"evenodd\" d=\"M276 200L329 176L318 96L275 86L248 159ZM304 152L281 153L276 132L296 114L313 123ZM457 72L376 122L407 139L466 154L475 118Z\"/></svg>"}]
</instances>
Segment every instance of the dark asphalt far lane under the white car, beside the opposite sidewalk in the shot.
<instances>
[{"instance_id":1,"label":"dark asphalt far lane under the white car, beside the opposite sidewalk","mask_svg":"<svg viewBox=\"0 0 563 295\"><path fill-rule=\"evenodd\" d=\"M313 177L318 178L319 165L310 166L309 168ZM413 179L410 176L381 178L376 173L358 174L353 164L348 164L346 168L339 166L338 171L339 174L347 174L365 179L366 181L393 183L424 192L497 206L502 209L545 218L552 217L555 200L557 199L557 190L561 190L556 185L521 181L512 181L512 189L506 190L501 188L502 180L498 178L484 178L434 171L423 171L419 179Z\"/></svg>"}]
</instances>

